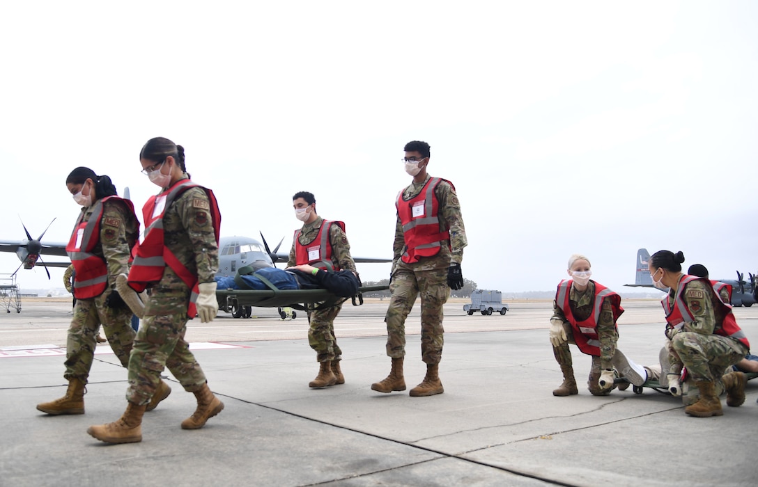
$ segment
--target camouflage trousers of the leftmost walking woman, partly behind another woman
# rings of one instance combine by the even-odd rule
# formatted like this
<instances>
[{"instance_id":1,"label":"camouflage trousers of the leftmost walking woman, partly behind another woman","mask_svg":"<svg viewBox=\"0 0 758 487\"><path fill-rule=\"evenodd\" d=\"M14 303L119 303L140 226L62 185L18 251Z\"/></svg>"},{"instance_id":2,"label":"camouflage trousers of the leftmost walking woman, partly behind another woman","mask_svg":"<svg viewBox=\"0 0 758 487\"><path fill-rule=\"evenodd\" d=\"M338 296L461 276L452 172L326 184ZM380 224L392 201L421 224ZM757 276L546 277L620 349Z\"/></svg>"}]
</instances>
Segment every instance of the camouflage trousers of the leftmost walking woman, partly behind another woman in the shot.
<instances>
[{"instance_id":1,"label":"camouflage trousers of the leftmost walking woman, partly behind another woman","mask_svg":"<svg viewBox=\"0 0 758 487\"><path fill-rule=\"evenodd\" d=\"M127 367L129 364L134 341L134 331L130 326L132 312L128 308L114 310L105 306L105 298L110 294L110 289L106 289L96 298L77 300L66 339L66 372L63 374L66 380L77 378L87 383L97 345L95 337L101 324L108 337L108 345L111 345L121 365Z\"/></svg>"}]
</instances>

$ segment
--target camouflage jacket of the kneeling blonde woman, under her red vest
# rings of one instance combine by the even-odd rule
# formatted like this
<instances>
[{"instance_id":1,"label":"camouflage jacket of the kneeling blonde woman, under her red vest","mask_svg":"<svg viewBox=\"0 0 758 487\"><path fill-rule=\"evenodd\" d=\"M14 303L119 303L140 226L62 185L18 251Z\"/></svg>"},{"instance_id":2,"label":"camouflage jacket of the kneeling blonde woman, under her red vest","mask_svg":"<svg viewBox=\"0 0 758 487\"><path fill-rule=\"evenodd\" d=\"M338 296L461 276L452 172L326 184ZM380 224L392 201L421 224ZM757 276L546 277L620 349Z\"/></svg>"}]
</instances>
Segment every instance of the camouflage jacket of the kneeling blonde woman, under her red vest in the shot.
<instances>
[{"instance_id":1,"label":"camouflage jacket of the kneeling blonde woman, under her red vest","mask_svg":"<svg viewBox=\"0 0 758 487\"><path fill-rule=\"evenodd\" d=\"M571 287L571 291L568 292L568 306L571 307L572 314L577 320L587 320L590 317L595 305L594 297L595 283L592 281L587 284L587 289L584 289L584 292L578 292L574 286ZM555 300L553 300L553 318L568 323ZM613 321L613 307L608 299L603 299L600 316L597 317L597 339L600 342L600 368L611 369L616 342L619 341L619 332L616 331Z\"/></svg>"}]
</instances>

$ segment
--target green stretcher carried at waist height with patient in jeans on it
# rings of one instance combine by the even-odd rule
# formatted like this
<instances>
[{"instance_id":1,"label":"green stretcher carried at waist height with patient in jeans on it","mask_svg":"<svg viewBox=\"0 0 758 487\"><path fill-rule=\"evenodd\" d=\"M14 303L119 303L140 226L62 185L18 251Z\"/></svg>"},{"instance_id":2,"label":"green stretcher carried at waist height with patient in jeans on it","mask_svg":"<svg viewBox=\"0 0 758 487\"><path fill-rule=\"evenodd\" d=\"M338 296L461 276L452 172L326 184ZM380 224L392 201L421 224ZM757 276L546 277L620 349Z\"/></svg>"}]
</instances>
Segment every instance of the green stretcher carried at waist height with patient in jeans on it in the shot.
<instances>
[{"instance_id":1,"label":"green stretcher carried at waist height with patient in jeans on it","mask_svg":"<svg viewBox=\"0 0 758 487\"><path fill-rule=\"evenodd\" d=\"M266 289L252 291L246 289L218 289L216 299L218 309L235 313L245 307L292 307L299 311L314 311L337 306L350 299L353 306L363 304L364 292L378 292L390 286L361 286L359 292L349 298L334 295L326 289Z\"/></svg>"}]
</instances>

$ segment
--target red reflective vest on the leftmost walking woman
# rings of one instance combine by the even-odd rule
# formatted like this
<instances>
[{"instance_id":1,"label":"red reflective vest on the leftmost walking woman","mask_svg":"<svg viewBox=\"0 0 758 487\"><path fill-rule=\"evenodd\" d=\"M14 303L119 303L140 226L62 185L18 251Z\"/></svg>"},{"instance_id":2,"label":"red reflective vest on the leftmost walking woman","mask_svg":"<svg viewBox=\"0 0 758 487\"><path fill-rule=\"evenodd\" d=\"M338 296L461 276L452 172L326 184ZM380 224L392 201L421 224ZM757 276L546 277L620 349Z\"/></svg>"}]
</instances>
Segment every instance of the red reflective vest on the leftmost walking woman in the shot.
<instances>
[{"instance_id":1,"label":"red reflective vest on the leftmost walking woman","mask_svg":"<svg viewBox=\"0 0 758 487\"><path fill-rule=\"evenodd\" d=\"M74 265L74 297L77 299L95 298L102 295L108 287L108 263L103 255L93 254L92 250L100 242L100 220L102 220L103 203L108 200L121 201L134 215L134 205L127 199L106 196L99 199L92 208L89 220L83 221L85 212L79 215L74 233L66 245L68 258ZM133 216L136 220L136 216ZM138 223L139 224L139 223Z\"/></svg>"}]
</instances>

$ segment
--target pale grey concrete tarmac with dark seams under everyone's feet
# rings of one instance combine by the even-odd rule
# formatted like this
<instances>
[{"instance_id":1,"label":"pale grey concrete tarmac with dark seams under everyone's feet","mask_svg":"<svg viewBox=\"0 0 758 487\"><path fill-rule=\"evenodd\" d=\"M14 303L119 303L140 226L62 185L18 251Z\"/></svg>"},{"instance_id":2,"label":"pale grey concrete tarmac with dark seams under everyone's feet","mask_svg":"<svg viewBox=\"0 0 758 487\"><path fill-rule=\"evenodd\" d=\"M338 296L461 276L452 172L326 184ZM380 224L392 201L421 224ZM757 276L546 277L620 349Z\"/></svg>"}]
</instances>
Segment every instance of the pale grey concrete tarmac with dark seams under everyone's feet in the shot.
<instances>
[{"instance_id":1,"label":"pale grey concrete tarmac with dark seams under everyone's feet","mask_svg":"<svg viewBox=\"0 0 758 487\"><path fill-rule=\"evenodd\" d=\"M590 357L572 347L579 394L552 395L562 376L547 336L550 302L512 302L506 316L447 304L444 394L381 394L390 371L387 302L346 306L336 322L346 383L309 389L318 372L307 321L220 314L186 338L225 408L180 429L195 400L168 370L172 394L143 418L143 441L106 445L86 433L126 407L126 370L98 347L86 414L52 417L61 397L70 301L24 300L0 314L0 485L756 485L758 380L741 407L694 418L681 400L631 387L594 397ZM619 348L641 364L664 340L657 301L624 301ZM758 309L735 308L758 343ZM406 323L408 389L421 382L418 304ZM223 347L223 348L221 348Z\"/></svg>"}]
</instances>

